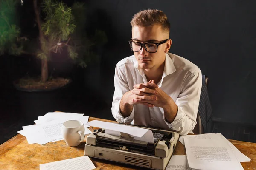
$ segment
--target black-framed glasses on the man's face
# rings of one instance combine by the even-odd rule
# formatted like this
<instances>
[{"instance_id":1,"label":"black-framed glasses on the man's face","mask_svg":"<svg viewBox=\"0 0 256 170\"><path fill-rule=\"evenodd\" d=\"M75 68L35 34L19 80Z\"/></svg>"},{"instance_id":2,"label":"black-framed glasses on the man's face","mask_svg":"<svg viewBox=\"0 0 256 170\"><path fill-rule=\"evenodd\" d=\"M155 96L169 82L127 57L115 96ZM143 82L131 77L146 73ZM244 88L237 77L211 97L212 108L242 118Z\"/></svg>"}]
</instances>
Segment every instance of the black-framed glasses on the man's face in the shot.
<instances>
[{"instance_id":1,"label":"black-framed glasses on the man's face","mask_svg":"<svg viewBox=\"0 0 256 170\"><path fill-rule=\"evenodd\" d=\"M167 40L168 39L163 40L159 43L155 43L155 42L140 43L140 42L132 41L132 38L131 38L131 40L129 41L129 44L130 44L131 51L139 52L141 48L144 47L145 50L148 51L149 53L155 53L157 52L158 46L166 43Z\"/></svg>"}]
</instances>

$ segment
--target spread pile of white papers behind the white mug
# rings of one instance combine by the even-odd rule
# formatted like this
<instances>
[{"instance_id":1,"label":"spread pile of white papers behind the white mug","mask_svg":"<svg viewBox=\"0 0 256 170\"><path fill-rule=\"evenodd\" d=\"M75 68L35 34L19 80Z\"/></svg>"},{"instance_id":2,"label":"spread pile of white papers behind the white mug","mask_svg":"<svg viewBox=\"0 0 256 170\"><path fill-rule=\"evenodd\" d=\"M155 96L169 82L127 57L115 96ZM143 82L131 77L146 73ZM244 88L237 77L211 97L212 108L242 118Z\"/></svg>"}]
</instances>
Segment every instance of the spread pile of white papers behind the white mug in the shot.
<instances>
[{"instance_id":1,"label":"spread pile of white papers behind the white mug","mask_svg":"<svg viewBox=\"0 0 256 170\"><path fill-rule=\"evenodd\" d=\"M67 120L80 120L85 127L84 134L92 133L85 125L88 122L89 116L77 113L64 112L49 112L44 116L39 116L38 120L34 122L36 125L23 126L23 130L18 131L26 139L29 144L46 144L48 142L55 142L64 140L61 134L62 124Z\"/></svg>"}]
</instances>

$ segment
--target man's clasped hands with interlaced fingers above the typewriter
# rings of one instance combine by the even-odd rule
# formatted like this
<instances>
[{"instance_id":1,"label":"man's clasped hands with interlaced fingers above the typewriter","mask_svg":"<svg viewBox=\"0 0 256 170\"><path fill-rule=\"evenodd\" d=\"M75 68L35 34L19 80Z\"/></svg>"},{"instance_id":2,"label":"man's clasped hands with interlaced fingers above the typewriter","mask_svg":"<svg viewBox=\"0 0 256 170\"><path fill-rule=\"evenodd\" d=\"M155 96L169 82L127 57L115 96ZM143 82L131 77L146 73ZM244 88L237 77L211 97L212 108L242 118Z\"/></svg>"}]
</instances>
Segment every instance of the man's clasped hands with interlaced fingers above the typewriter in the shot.
<instances>
[{"instance_id":1,"label":"man's clasped hands with interlaced fingers above the typewriter","mask_svg":"<svg viewBox=\"0 0 256 170\"><path fill-rule=\"evenodd\" d=\"M129 105L142 104L148 107L165 108L172 102L172 98L158 88L154 80L134 85L134 89L125 93L124 97Z\"/></svg>"}]
</instances>

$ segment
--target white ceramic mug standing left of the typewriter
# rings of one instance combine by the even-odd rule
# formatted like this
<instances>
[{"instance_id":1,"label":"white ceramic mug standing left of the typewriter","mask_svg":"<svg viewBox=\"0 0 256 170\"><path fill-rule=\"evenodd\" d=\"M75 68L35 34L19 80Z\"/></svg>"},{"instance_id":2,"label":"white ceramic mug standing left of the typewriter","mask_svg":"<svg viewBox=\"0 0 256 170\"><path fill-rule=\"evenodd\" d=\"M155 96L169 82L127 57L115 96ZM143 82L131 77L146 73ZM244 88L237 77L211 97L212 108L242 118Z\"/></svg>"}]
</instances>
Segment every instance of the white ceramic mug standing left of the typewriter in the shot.
<instances>
[{"instance_id":1,"label":"white ceramic mug standing left of the typewriter","mask_svg":"<svg viewBox=\"0 0 256 170\"><path fill-rule=\"evenodd\" d=\"M79 120L64 122L61 132L68 146L78 146L84 141L84 124Z\"/></svg>"}]
</instances>

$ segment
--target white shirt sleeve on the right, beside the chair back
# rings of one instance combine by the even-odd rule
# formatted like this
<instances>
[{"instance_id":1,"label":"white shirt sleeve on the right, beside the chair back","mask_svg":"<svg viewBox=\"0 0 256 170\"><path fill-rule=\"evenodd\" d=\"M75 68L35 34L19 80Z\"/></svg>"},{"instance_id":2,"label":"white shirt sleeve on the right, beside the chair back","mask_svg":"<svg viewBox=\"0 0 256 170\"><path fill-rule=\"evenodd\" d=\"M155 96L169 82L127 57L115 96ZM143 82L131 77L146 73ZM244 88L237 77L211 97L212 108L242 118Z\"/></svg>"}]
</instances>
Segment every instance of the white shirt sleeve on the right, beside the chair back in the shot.
<instances>
[{"instance_id":1,"label":"white shirt sleeve on the right, beside the chair back","mask_svg":"<svg viewBox=\"0 0 256 170\"><path fill-rule=\"evenodd\" d=\"M178 106L178 111L174 121L169 123L164 117L166 125L180 135L192 132L196 125L201 88L201 71L195 75L190 73L190 76L184 80L182 91L175 102Z\"/></svg>"}]
</instances>

